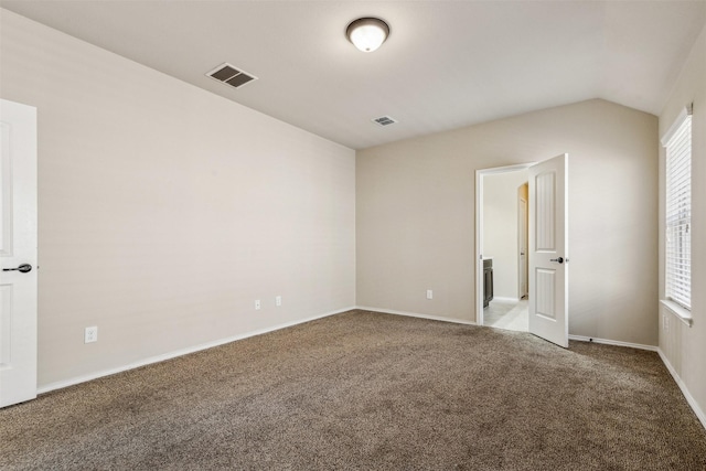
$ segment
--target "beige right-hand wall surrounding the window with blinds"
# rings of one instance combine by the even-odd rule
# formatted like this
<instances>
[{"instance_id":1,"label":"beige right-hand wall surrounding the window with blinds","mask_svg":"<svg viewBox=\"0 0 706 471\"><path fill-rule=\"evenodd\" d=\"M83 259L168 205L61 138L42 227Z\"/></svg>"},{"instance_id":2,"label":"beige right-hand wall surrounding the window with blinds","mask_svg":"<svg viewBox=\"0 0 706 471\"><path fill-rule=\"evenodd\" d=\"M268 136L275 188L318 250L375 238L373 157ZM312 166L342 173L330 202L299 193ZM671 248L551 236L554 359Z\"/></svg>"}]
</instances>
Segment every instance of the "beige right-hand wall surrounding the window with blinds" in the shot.
<instances>
[{"instance_id":1,"label":"beige right-hand wall surrounding the window with blinds","mask_svg":"<svg viewBox=\"0 0 706 471\"><path fill-rule=\"evenodd\" d=\"M660 308L660 350L674 370L706 426L706 28L702 31L680 79L660 115L660 136L672 126L686 104L692 117L692 317L689 328ZM660 153L660 182L664 150ZM664 188L660 201L664 199ZM663 213L663 207L661 208ZM664 221L661 216L660 221ZM664 237L663 224L660 235ZM662 254L661 254L662 255ZM661 257L662 258L662 257ZM664 268L660 266L660 295L664 295ZM668 325L665 325L665 320ZM665 329L666 327L666 329Z\"/></svg>"}]
</instances>

